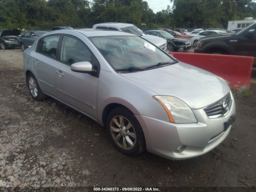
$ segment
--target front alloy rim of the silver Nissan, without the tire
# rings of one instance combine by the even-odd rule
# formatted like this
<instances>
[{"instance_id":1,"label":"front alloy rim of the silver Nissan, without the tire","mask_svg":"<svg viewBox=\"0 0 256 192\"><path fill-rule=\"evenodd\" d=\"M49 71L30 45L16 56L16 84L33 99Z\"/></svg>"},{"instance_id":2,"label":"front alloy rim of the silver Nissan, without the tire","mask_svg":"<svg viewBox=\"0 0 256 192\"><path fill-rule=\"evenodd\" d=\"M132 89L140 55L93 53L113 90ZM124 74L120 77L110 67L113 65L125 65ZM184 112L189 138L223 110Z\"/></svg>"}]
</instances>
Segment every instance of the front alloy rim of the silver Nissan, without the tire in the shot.
<instances>
[{"instance_id":1,"label":"front alloy rim of the silver Nissan, without the tire","mask_svg":"<svg viewBox=\"0 0 256 192\"><path fill-rule=\"evenodd\" d=\"M110 133L118 146L124 150L134 148L136 132L128 119L123 116L114 116L110 122Z\"/></svg>"}]
</instances>

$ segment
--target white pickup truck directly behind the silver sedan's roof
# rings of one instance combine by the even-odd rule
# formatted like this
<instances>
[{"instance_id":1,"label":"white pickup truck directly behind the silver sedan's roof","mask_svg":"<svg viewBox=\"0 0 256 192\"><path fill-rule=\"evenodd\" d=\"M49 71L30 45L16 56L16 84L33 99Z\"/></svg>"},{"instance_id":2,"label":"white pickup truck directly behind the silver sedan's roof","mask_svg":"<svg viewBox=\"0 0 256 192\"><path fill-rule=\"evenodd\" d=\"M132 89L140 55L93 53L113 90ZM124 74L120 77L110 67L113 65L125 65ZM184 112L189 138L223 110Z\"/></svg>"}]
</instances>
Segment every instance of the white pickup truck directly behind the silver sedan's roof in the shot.
<instances>
[{"instance_id":1,"label":"white pickup truck directly behind the silver sedan's roof","mask_svg":"<svg viewBox=\"0 0 256 192\"><path fill-rule=\"evenodd\" d=\"M156 36L146 35L144 32L142 32L142 30L140 30L138 27L134 26L133 24L107 22L107 23L95 24L94 26L92 26L92 28L132 33L132 34L140 36L141 38L148 40L149 42L158 46L162 50L166 50L166 46L167 46L166 40L156 37Z\"/></svg>"}]
</instances>

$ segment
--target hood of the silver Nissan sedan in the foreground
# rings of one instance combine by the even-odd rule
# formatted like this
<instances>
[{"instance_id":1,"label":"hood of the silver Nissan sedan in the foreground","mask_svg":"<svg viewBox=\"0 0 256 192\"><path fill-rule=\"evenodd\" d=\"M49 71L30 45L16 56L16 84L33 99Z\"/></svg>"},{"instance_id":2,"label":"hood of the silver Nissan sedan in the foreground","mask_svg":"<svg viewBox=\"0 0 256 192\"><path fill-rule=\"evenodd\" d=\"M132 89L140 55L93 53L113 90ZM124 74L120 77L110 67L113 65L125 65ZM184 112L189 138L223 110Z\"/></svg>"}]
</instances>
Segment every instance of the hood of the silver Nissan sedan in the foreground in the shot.
<instances>
[{"instance_id":1,"label":"hood of the silver Nissan sedan in the foreground","mask_svg":"<svg viewBox=\"0 0 256 192\"><path fill-rule=\"evenodd\" d=\"M182 62L120 75L158 95L175 96L186 102L192 109L208 106L230 91L228 84L222 78Z\"/></svg>"}]
</instances>

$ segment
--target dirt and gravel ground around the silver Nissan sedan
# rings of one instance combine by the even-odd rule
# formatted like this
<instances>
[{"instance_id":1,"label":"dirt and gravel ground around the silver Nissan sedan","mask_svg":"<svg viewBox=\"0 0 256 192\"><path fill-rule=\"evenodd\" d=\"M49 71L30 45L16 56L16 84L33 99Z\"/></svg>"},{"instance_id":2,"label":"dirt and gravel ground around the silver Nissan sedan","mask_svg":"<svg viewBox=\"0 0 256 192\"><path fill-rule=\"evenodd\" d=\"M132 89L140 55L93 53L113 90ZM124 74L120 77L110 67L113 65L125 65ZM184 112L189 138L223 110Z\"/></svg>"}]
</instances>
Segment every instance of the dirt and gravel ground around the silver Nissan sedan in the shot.
<instances>
[{"instance_id":1,"label":"dirt and gravel ground around the silver Nissan sedan","mask_svg":"<svg viewBox=\"0 0 256 192\"><path fill-rule=\"evenodd\" d=\"M236 122L222 144L203 156L173 161L149 152L121 154L93 120L51 98L32 100L22 69L20 49L0 50L0 191L17 191L16 186L255 191L256 84L250 96L235 94Z\"/></svg>"}]
</instances>

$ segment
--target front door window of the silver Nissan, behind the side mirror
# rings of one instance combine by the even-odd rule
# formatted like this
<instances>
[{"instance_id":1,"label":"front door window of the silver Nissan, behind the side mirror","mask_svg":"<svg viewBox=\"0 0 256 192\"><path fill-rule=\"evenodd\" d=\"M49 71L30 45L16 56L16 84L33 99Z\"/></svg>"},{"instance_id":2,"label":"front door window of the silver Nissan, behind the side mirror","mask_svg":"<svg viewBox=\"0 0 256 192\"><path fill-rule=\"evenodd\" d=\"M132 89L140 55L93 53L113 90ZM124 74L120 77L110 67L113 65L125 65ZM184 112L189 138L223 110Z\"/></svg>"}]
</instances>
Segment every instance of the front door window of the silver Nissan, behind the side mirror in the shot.
<instances>
[{"instance_id":1,"label":"front door window of the silver Nissan, behind the side mirror","mask_svg":"<svg viewBox=\"0 0 256 192\"><path fill-rule=\"evenodd\" d=\"M64 36L60 48L60 60L68 65L82 61L92 63L92 54L80 40Z\"/></svg>"}]
</instances>

